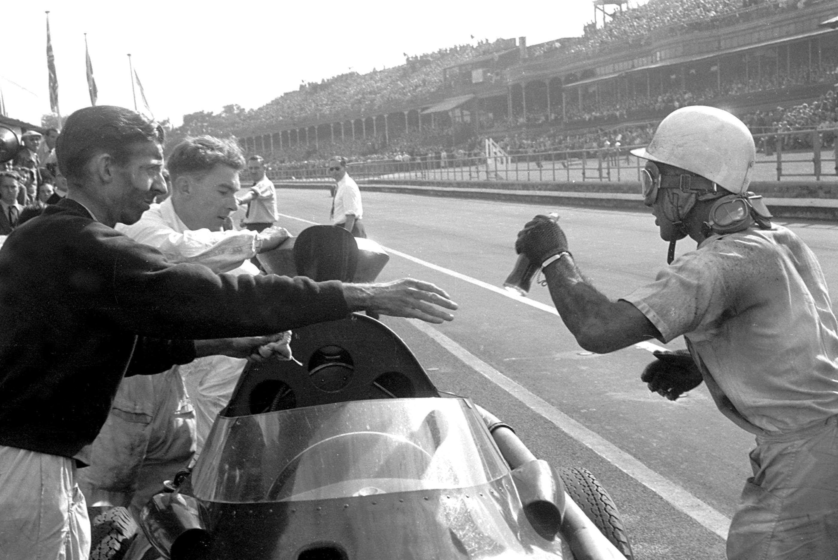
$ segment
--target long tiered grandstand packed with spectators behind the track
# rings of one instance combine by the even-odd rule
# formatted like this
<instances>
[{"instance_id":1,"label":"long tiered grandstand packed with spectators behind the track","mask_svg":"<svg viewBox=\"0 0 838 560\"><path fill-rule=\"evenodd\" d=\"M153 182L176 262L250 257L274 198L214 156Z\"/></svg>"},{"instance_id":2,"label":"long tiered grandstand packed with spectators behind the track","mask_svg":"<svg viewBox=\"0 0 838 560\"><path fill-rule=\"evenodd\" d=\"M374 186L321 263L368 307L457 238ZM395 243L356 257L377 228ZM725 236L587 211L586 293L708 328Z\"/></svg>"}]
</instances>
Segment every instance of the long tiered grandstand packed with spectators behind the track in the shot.
<instances>
[{"instance_id":1,"label":"long tiered grandstand packed with spectators behind the track","mask_svg":"<svg viewBox=\"0 0 838 560\"><path fill-rule=\"evenodd\" d=\"M835 127L835 0L596 0L582 37L488 39L368 74L302 85L256 110L184 116L274 165L334 152L526 152L641 143L683 105L731 110L755 133ZM606 15L608 14L608 15ZM763 146L764 147L764 146Z\"/></svg>"}]
</instances>

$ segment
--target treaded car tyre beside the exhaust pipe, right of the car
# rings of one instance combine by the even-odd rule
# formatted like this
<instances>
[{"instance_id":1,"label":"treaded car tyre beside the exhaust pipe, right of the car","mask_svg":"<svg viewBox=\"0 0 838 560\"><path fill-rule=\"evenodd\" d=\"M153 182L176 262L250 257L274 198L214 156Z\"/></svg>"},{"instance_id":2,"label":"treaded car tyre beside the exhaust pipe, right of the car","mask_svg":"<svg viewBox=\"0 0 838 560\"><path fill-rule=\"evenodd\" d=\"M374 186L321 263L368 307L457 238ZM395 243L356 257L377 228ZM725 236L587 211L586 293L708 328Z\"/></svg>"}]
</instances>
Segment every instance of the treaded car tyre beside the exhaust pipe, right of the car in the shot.
<instances>
[{"instance_id":1,"label":"treaded car tyre beside the exhaust pipe, right of the car","mask_svg":"<svg viewBox=\"0 0 838 560\"><path fill-rule=\"evenodd\" d=\"M590 470L577 467L562 467L559 476L568 496L573 498L585 515L608 538L617 550L629 560L634 560L629 534L617 506Z\"/></svg>"}]
</instances>

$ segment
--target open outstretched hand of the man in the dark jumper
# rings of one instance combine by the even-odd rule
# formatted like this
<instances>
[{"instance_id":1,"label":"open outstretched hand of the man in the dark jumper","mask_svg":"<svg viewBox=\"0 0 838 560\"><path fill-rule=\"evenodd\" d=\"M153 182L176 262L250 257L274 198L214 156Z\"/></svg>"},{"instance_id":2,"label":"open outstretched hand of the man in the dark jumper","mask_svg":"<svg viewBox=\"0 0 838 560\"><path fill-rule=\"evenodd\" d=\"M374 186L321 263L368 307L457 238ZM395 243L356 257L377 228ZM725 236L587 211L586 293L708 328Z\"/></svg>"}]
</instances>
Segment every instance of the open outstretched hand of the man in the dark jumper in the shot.
<instances>
[{"instance_id":1,"label":"open outstretched hand of the man in the dark jumper","mask_svg":"<svg viewBox=\"0 0 838 560\"><path fill-rule=\"evenodd\" d=\"M443 310L453 311L458 307L445 290L412 278L385 284L344 284L344 297L353 311L411 317L437 324L453 321L454 316Z\"/></svg>"}]
</instances>

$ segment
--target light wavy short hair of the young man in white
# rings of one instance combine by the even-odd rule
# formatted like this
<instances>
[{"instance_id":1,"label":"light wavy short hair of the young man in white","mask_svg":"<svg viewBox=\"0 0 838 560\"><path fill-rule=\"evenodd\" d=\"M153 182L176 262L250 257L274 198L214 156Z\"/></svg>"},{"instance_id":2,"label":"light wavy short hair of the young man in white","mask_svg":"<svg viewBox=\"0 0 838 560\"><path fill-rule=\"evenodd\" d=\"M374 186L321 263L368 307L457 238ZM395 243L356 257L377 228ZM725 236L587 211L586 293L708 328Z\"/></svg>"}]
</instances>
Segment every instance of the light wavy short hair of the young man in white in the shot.
<instances>
[{"instance_id":1,"label":"light wavy short hair of the young man in white","mask_svg":"<svg viewBox=\"0 0 838 560\"><path fill-rule=\"evenodd\" d=\"M174 146L166 162L172 182L181 175L204 177L216 165L232 167L235 171L244 169L245 156L241 147L235 141L215 136L189 136Z\"/></svg>"}]
</instances>

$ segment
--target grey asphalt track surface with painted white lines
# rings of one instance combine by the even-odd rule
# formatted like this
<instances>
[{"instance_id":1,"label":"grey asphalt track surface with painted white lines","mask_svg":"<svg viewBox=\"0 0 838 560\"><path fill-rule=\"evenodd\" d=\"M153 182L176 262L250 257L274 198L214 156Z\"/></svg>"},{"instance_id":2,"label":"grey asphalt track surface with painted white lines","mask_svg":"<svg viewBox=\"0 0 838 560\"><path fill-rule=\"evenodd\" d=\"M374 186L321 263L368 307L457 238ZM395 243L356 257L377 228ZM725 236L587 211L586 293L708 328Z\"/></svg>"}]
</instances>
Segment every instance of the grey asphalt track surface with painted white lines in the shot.
<instances>
[{"instance_id":1,"label":"grey asphalt track surface with painted white lines","mask_svg":"<svg viewBox=\"0 0 838 560\"><path fill-rule=\"evenodd\" d=\"M515 234L557 211L577 264L613 298L654 280L666 244L648 213L546 207L394 193L363 193L370 239L391 259L379 280L431 281L460 309L444 325L385 317L442 391L473 398L515 427L536 456L582 466L603 483L639 559L725 557L727 523L749 475L753 436L716 410L701 385L677 402L639 381L649 349L593 355L556 316L546 288L500 290L515 262ZM328 190L283 188L280 223L297 234L328 223ZM788 223L838 286L838 225ZM679 253L693 249L681 241ZM682 339L666 347L684 347Z\"/></svg>"}]
</instances>

